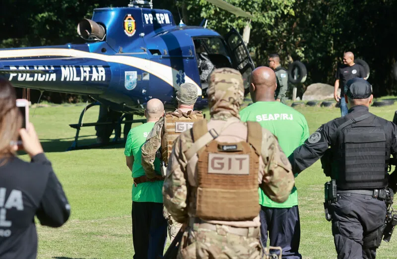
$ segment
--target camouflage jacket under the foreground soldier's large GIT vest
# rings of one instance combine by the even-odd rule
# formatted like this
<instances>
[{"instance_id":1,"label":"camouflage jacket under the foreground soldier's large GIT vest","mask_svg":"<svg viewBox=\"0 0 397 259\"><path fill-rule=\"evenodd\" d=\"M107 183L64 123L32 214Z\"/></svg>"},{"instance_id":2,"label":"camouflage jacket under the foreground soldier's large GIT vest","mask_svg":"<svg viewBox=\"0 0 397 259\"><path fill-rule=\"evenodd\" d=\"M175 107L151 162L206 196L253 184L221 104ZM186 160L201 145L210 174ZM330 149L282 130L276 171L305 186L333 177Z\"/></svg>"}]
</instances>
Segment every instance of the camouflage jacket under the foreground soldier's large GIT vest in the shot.
<instances>
[{"instance_id":1,"label":"camouflage jacket under the foreground soldier's large GIT vest","mask_svg":"<svg viewBox=\"0 0 397 259\"><path fill-rule=\"evenodd\" d=\"M219 133L219 142L239 142L247 139L246 123L236 117L227 120L236 120L236 123L218 132L222 128L224 120L210 120L208 129L215 129ZM167 176L163 185L163 202L168 212L176 221L184 223L189 217L195 216L196 200L189 200L188 192L196 192L197 183L197 154L188 161L185 152L192 146L192 130L187 130L174 142L172 154L168 161ZM282 152L276 137L267 129L262 129L262 158L258 172L258 186L264 190L270 199L276 202L284 202L294 186L294 175L291 165ZM190 168L190 169L188 169ZM194 170L195 172L189 173ZM257 222L224 222L216 221L213 224L233 225L236 227L258 226Z\"/></svg>"}]
</instances>

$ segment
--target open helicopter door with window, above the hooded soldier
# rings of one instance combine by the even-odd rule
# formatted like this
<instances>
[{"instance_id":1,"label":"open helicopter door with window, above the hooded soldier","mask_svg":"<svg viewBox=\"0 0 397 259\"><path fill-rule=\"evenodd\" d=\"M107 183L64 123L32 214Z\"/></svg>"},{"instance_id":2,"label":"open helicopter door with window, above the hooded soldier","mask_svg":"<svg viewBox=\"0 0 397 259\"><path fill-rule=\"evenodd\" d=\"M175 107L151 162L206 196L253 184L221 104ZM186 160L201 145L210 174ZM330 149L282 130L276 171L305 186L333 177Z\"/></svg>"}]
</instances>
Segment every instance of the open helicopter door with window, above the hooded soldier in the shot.
<instances>
[{"instance_id":1,"label":"open helicopter door with window, above the hooded soldier","mask_svg":"<svg viewBox=\"0 0 397 259\"><path fill-rule=\"evenodd\" d=\"M245 45L243 38L237 32L235 28L225 36L227 45L230 48L230 58L233 61L233 67L240 71L243 75L245 94L249 92L250 75L254 70L255 65L250 57L247 46Z\"/></svg>"}]
</instances>

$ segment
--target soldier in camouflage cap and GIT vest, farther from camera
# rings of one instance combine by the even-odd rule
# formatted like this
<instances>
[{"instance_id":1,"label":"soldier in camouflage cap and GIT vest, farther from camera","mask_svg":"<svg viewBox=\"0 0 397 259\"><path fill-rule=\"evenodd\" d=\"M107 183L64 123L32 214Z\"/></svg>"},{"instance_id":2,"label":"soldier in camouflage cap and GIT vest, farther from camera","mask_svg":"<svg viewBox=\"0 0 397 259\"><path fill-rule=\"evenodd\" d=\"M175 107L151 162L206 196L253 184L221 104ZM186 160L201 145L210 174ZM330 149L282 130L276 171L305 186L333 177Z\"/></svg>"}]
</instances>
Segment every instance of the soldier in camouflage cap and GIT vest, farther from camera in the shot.
<instances>
[{"instance_id":1,"label":"soldier in camouflage cap and GIT vest, farther from camera","mask_svg":"<svg viewBox=\"0 0 397 259\"><path fill-rule=\"evenodd\" d=\"M198 91L194 84L181 84L181 88L176 96L178 109L174 112L164 114L150 131L146 142L142 146L141 164L147 178L153 178L156 175L153 165L156 153L163 161L163 166L166 167L175 138L184 130L192 128L194 122L202 120L202 113L200 111L193 111L197 97ZM165 207L163 209L163 215L168 222L168 234L172 242L182 224L176 222Z\"/></svg>"}]
</instances>

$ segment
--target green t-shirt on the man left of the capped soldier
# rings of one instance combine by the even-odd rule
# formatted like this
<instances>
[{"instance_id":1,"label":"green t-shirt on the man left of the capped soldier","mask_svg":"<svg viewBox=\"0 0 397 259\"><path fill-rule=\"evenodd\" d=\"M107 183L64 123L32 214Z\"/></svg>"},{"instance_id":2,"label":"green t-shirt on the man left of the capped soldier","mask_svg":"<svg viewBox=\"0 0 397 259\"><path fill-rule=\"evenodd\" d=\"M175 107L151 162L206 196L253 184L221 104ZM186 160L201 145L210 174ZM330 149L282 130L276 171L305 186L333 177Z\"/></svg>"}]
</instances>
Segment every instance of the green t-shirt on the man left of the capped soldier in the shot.
<instances>
[{"instance_id":1,"label":"green t-shirt on the man left of the capped soldier","mask_svg":"<svg viewBox=\"0 0 397 259\"><path fill-rule=\"evenodd\" d=\"M128 133L124 154L126 156L133 155L132 178L145 175L145 171L141 165L141 148L153 126L154 122L145 123L132 128ZM154 160L154 170L161 175L160 160L158 158ZM163 183L164 181L155 181L141 183L137 186L132 184L132 201L163 203L163 194L161 193Z\"/></svg>"}]
</instances>

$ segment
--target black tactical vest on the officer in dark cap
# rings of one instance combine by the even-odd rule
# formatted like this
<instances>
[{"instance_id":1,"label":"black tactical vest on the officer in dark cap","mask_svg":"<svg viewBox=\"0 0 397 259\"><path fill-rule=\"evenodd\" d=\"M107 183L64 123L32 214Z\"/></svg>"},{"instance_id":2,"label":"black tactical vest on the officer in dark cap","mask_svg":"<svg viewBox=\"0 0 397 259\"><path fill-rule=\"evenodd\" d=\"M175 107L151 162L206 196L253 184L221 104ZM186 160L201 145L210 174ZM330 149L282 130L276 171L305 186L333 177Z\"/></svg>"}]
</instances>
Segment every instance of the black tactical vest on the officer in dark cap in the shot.
<instances>
[{"instance_id":1,"label":"black tactical vest on the officer in dark cap","mask_svg":"<svg viewBox=\"0 0 397 259\"><path fill-rule=\"evenodd\" d=\"M331 178L340 189L385 188L390 146L384 128L361 123L350 125L337 130Z\"/></svg>"}]
</instances>

